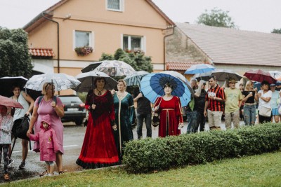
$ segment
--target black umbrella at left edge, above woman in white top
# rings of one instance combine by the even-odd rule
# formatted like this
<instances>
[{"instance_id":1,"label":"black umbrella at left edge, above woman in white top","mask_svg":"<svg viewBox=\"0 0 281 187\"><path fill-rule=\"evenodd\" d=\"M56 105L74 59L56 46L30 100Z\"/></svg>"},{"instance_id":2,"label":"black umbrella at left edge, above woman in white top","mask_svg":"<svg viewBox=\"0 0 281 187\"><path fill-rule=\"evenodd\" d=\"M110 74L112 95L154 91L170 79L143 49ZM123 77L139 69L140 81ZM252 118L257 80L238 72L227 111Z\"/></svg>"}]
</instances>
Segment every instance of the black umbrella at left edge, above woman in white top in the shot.
<instances>
[{"instance_id":1,"label":"black umbrella at left edge, above woman in white top","mask_svg":"<svg viewBox=\"0 0 281 187\"><path fill-rule=\"evenodd\" d=\"M13 85L17 85L23 88L27 78L23 76L4 76L0 78L0 95L11 97L13 95L12 88Z\"/></svg>"}]
</instances>

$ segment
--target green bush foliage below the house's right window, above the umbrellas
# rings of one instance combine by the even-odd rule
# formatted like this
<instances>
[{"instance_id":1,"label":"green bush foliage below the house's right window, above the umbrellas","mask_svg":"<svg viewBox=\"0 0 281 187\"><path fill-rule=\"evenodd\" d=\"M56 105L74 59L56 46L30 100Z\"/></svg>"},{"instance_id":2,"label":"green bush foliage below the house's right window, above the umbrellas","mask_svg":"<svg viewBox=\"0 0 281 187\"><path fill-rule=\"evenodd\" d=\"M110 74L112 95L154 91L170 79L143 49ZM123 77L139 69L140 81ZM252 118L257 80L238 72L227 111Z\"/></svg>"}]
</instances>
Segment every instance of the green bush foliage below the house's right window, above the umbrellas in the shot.
<instances>
[{"instance_id":1,"label":"green bush foliage below the house's right window, above the umbrellas","mask_svg":"<svg viewBox=\"0 0 281 187\"><path fill-rule=\"evenodd\" d=\"M134 50L125 52L121 48L115 51L114 55L105 54L101 55L101 60L120 60L130 64L136 71L152 71L151 57L145 56L142 50Z\"/></svg>"}]
</instances>

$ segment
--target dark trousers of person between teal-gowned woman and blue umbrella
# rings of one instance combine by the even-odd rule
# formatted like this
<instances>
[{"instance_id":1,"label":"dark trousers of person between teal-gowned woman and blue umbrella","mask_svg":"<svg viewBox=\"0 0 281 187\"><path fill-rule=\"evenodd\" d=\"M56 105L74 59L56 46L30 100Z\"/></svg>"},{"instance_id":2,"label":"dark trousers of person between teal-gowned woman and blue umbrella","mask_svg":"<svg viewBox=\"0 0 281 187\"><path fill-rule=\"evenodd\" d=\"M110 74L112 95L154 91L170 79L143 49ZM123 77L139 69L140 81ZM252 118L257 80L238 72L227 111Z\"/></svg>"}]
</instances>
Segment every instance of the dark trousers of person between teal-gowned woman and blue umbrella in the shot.
<instances>
[{"instance_id":1,"label":"dark trousers of person between teal-gowned woman and blue umbrella","mask_svg":"<svg viewBox=\"0 0 281 187\"><path fill-rule=\"evenodd\" d=\"M145 121L145 126L146 126L146 137L151 137L151 135L152 135L151 113L148 113L148 114L136 113L136 119L138 120L138 125L136 128L136 133L138 134L138 139L141 139L141 137L143 137L143 120Z\"/></svg>"}]
</instances>

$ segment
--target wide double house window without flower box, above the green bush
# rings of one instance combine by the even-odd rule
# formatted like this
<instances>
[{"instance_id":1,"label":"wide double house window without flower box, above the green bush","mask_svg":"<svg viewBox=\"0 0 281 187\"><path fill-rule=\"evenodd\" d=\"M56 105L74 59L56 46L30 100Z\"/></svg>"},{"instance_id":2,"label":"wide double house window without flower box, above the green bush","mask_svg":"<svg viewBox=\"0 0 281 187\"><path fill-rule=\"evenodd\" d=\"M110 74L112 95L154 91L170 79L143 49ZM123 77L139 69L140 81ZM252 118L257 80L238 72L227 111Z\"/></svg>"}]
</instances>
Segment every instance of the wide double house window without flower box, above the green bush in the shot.
<instances>
[{"instance_id":1,"label":"wide double house window without flower box, above the green bush","mask_svg":"<svg viewBox=\"0 0 281 187\"><path fill-rule=\"evenodd\" d=\"M123 50L144 50L143 36L123 36Z\"/></svg>"}]
</instances>

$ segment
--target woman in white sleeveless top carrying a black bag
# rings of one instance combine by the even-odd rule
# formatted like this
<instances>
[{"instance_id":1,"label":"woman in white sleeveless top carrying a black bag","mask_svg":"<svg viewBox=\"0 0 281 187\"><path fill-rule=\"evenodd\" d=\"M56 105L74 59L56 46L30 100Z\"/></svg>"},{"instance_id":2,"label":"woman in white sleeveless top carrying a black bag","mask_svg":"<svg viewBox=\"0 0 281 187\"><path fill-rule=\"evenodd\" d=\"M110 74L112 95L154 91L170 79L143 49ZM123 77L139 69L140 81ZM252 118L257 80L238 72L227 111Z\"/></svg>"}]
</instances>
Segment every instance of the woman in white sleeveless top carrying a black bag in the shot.
<instances>
[{"instance_id":1,"label":"woman in white sleeveless top carrying a black bag","mask_svg":"<svg viewBox=\"0 0 281 187\"><path fill-rule=\"evenodd\" d=\"M30 116L30 113L34 106L34 100L32 99L32 97L30 97L30 95L20 90L20 85L13 85L12 92L13 92L13 96L11 97L11 99L13 99L16 102L19 102L23 106L23 109L15 109L14 113L12 113L13 121L18 120L19 118L22 118L25 115ZM18 167L19 169L25 168L25 160L27 158L27 153L28 153L28 140L22 139L22 162ZM11 167L11 165L13 164L13 160L10 159L9 162L10 162L9 167Z\"/></svg>"}]
</instances>

